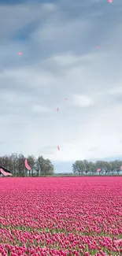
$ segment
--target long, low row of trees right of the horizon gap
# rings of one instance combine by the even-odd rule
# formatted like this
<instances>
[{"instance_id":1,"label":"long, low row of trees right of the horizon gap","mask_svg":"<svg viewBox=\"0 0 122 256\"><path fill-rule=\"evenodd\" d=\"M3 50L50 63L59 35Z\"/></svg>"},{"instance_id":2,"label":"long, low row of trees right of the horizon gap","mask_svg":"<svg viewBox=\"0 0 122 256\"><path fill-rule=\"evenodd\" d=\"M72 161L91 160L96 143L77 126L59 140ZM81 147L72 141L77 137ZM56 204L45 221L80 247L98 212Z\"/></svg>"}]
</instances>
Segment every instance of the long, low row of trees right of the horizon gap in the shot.
<instances>
[{"instance_id":1,"label":"long, low row of trees right of the horizon gap","mask_svg":"<svg viewBox=\"0 0 122 256\"><path fill-rule=\"evenodd\" d=\"M84 174L119 174L120 167L122 166L122 161L76 161L75 164L72 164L72 172L74 175L84 175ZM99 170L98 170L99 169Z\"/></svg>"}]
</instances>

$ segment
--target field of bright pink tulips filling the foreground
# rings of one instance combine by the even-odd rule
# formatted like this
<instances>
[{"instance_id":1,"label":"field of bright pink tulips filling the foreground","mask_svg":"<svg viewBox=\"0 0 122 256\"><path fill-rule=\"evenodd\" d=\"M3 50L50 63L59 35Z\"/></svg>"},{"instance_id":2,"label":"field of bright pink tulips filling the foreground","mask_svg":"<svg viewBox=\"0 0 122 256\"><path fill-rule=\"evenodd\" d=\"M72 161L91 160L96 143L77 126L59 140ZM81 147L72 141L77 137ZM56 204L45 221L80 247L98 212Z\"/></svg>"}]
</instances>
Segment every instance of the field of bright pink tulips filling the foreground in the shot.
<instances>
[{"instance_id":1,"label":"field of bright pink tulips filling the foreground","mask_svg":"<svg viewBox=\"0 0 122 256\"><path fill-rule=\"evenodd\" d=\"M122 177L0 178L0 255L122 255Z\"/></svg>"}]
</instances>

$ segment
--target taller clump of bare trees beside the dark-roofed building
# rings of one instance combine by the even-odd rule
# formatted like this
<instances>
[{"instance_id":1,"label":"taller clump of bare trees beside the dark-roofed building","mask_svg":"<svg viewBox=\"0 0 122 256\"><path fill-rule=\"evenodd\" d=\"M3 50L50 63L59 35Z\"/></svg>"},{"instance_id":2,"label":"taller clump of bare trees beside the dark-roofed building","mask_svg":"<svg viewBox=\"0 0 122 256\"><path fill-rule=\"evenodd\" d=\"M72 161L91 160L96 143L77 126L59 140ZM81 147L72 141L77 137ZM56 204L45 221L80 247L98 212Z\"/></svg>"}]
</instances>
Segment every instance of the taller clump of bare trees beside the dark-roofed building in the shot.
<instances>
[{"instance_id":1,"label":"taller clump of bare trees beside the dark-roofed building","mask_svg":"<svg viewBox=\"0 0 122 256\"><path fill-rule=\"evenodd\" d=\"M54 175L54 165L50 159L44 159L43 156L35 158L33 155L28 156L28 164L31 171L24 165L24 155L13 153L0 157L0 165L9 169L13 176L50 176Z\"/></svg>"}]
</instances>

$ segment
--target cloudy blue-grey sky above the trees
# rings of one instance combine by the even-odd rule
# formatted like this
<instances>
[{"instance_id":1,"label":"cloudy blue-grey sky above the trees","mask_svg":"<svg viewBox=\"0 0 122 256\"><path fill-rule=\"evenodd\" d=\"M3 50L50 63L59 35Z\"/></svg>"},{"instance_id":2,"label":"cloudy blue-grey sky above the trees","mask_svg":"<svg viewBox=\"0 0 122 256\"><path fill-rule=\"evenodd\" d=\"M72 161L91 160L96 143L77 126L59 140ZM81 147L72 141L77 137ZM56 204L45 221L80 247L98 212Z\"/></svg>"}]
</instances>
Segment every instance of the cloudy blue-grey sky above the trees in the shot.
<instances>
[{"instance_id":1,"label":"cloudy blue-grey sky above the trees","mask_svg":"<svg viewBox=\"0 0 122 256\"><path fill-rule=\"evenodd\" d=\"M0 155L121 160L121 67L121 0L0 0Z\"/></svg>"}]
</instances>

